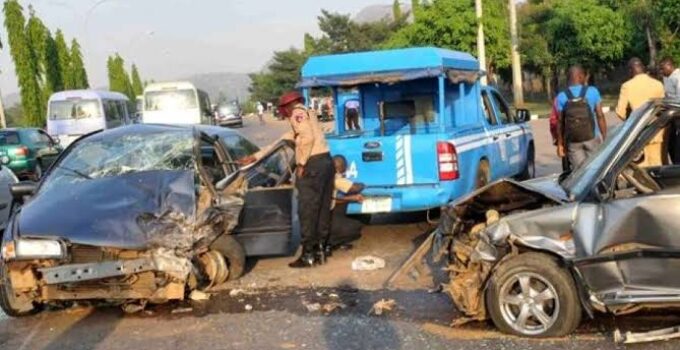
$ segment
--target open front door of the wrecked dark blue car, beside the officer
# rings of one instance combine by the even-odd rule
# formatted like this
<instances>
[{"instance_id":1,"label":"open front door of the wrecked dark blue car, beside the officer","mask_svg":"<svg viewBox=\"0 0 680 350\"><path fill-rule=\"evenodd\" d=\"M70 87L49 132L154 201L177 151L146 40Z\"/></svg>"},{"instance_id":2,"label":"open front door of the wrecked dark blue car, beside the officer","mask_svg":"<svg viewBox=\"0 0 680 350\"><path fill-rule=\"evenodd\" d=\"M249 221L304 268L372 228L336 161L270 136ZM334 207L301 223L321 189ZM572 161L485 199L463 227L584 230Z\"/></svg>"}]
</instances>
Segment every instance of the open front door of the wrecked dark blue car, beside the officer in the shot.
<instances>
[{"instance_id":1,"label":"open front door of the wrecked dark blue car, beside the officer","mask_svg":"<svg viewBox=\"0 0 680 350\"><path fill-rule=\"evenodd\" d=\"M234 230L247 256L290 255L299 242L292 175L295 152L281 142L241 170L248 181L245 205Z\"/></svg>"}]
</instances>

